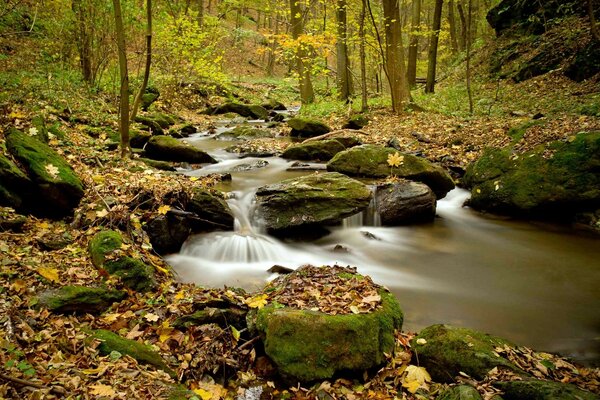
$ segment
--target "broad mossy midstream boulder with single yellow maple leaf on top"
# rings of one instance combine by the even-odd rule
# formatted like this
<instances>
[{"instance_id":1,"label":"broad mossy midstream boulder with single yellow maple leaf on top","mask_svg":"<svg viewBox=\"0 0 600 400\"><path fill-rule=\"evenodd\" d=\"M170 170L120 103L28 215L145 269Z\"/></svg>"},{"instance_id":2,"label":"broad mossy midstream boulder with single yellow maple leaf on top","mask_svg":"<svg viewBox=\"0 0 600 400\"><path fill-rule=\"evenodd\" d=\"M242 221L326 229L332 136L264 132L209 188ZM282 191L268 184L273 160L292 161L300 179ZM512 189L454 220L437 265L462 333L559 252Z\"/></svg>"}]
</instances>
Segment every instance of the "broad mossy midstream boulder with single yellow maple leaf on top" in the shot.
<instances>
[{"instance_id":1,"label":"broad mossy midstream boulder with single yellow maple leaf on top","mask_svg":"<svg viewBox=\"0 0 600 400\"><path fill-rule=\"evenodd\" d=\"M398 153L398 166L391 167L388 157ZM327 164L328 171L350 176L384 178L390 175L429 186L438 199L454 189L454 181L442 167L411 154L399 153L391 147L362 145L336 154Z\"/></svg>"}]
</instances>

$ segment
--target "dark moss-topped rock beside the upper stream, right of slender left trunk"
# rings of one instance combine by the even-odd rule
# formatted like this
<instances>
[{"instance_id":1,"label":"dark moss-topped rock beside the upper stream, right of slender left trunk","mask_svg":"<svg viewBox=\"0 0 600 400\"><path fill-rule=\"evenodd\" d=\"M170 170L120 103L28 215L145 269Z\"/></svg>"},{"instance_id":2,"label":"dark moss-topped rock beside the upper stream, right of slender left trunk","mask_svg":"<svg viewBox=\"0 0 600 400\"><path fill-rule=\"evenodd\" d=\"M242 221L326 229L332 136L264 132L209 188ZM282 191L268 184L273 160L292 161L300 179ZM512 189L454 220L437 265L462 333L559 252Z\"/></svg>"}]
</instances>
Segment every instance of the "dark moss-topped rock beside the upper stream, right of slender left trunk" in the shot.
<instances>
[{"instance_id":1,"label":"dark moss-topped rock beside the upper stream, right of slender left trunk","mask_svg":"<svg viewBox=\"0 0 600 400\"><path fill-rule=\"evenodd\" d=\"M170 136L153 136L146 144L146 156L160 161L216 163L208 153Z\"/></svg>"}]
</instances>

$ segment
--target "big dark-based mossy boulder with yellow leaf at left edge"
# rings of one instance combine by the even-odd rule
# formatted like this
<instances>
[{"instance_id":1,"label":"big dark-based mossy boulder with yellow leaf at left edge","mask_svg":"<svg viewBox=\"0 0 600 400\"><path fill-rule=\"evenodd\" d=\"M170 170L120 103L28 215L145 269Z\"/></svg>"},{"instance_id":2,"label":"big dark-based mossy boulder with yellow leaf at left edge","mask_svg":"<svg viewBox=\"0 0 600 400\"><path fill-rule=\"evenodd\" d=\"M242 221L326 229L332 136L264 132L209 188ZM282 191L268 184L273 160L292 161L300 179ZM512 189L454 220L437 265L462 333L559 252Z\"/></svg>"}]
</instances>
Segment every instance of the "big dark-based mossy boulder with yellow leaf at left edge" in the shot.
<instances>
[{"instance_id":1,"label":"big dark-based mossy boulder with yellow leaf at left edge","mask_svg":"<svg viewBox=\"0 0 600 400\"><path fill-rule=\"evenodd\" d=\"M37 216L62 218L72 215L84 192L83 183L71 166L48 145L14 128L8 131L6 147L27 175L2 157L0 174L8 179L7 183L4 179L0 183L0 199L8 197L17 204L20 202L18 209ZM23 187L14 187L17 183L23 183Z\"/></svg>"}]
</instances>

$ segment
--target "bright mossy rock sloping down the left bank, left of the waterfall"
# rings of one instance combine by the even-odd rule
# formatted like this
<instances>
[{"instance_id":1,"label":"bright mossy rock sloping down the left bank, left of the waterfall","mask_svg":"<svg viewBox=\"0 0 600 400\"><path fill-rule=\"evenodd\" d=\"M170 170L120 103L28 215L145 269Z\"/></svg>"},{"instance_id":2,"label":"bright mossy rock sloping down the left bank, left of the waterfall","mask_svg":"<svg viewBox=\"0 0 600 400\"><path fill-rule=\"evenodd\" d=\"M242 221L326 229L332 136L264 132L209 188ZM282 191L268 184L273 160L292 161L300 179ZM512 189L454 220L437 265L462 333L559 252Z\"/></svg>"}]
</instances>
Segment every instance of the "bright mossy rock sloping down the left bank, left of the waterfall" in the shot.
<instances>
[{"instance_id":1,"label":"bright mossy rock sloping down the left bank, left of the waterfall","mask_svg":"<svg viewBox=\"0 0 600 400\"><path fill-rule=\"evenodd\" d=\"M123 244L123 237L117 231L97 233L89 244L94 266L118 276L125 286L133 290L146 292L155 288L153 268L142 260L125 256L121 250Z\"/></svg>"}]
</instances>

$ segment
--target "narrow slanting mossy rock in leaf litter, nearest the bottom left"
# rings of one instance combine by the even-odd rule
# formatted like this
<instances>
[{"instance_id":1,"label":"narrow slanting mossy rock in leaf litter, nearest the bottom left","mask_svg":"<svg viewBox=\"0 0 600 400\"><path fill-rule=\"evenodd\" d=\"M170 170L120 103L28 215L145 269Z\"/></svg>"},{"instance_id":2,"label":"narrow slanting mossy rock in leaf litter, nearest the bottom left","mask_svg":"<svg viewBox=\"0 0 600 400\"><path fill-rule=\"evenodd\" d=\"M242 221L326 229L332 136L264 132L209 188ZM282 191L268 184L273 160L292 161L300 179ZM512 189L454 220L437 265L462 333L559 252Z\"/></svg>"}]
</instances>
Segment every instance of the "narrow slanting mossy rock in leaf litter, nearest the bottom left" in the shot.
<instances>
[{"instance_id":1,"label":"narrow slanting mossy rock in leaf litter, nearest the bottom left","mask_svg":"<svg viewBox=\"0 0 600 400\"><path fill-rule=\"evenodd\" d=\"M116 333L104 329L98 329L91 332L91 337L100 340L98 351L102 355L109 355L113 351L118 351L123 355L128 355L140 363L152 365L168 373L175 378L176 374L167 366L160 354L135 340L125 339Z\"/></svg>"}]
</instances>

